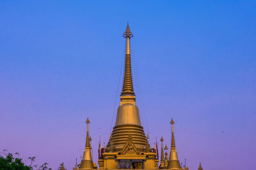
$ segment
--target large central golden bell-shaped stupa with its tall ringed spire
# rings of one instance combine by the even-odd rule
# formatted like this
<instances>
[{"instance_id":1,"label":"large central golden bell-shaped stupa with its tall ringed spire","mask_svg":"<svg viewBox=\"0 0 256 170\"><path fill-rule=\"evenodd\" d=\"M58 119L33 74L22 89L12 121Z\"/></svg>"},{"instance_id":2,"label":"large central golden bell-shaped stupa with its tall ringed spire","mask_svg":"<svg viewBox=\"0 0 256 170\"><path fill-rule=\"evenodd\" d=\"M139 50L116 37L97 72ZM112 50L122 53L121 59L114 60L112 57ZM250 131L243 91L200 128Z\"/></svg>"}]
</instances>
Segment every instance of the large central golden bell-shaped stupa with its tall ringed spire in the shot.
<instances>
[{"instance_id":1,"label":"large central golden bell-shaped stupa with its tall ringed spire","mask_svg":"<svg viewBox=\"0 0 256 170\"><path fill-rule=\"evenodd\" d=\"M127 24L123 36L126 38L124 84L120 94L120 106L116 114L115 127L113 127L111 133L112 139L109 139L106 152L120 152L128 140L129 134L131 134L132 143L136 145L139 152L145 152L145 148L147 151L151 151L148 139L141 126L139 109L135 103L130 52L130 39L133 35L129 24Z\"/></svg>"}]
</instances>

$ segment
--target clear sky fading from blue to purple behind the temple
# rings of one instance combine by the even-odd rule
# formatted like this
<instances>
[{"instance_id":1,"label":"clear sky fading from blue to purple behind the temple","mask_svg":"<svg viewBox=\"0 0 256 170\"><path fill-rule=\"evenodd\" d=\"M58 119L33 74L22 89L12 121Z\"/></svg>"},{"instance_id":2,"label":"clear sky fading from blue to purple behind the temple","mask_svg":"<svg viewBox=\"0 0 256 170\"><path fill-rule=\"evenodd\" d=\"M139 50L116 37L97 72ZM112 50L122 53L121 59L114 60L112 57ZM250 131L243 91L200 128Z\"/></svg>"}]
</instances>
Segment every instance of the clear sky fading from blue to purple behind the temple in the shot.
<instances>
[{"instance_id":1,"label":"clear sky fading from blue to purple behind the temple","mask_svg":"<svg viewBox=\"0 0 256 170\"><path fill-rule=\"evenodd\" d=\"M151 146L163 135L170 148L173 117L189 169L255 168L255 1L0 1L0 150L71 169L89 117L97 162L115 124L127 20Z\"/></svg>"}]
</instances>

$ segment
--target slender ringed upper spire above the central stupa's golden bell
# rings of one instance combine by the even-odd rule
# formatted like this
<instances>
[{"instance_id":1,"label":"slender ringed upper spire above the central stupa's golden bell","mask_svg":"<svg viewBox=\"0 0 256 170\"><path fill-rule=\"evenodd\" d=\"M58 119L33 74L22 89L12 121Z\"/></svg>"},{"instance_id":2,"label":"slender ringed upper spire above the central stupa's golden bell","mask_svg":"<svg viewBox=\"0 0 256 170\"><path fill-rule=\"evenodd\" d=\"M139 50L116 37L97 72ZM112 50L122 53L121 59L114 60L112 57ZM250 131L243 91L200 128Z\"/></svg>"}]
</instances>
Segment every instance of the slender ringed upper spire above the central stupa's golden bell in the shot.
<instances>
[{"instance_id":1,"label":"slender ringed upper spire above the central stupa's golden bell","mask_svg":"<svg viewBox=\"0 0 256 170\"><path fill-rule=\"evenodd\" d=\"M130 39L133 37L129 24L127 22L126 30L123 34L126 38L126 52L125 52L125 69L124 69L124 83L121 96L134 96L133 84L132 84L132 68L131 68L131 50Z\"/></svg>"}]
</instances>

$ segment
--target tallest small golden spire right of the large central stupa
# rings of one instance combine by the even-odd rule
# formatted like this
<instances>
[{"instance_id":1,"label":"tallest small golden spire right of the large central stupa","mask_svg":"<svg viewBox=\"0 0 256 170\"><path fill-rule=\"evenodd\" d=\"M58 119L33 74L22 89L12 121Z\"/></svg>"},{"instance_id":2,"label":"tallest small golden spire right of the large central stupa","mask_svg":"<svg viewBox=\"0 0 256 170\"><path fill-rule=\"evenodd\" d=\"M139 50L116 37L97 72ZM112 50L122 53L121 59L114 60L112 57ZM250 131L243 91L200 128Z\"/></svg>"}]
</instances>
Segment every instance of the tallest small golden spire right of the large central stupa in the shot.
<instances>
[{"instance_id":1,"label":"tallest small golden spire right of the large central stupa","mask_svg":"<svg viewBox=\"0 0 256 170\"><path fill-rule=\"evenodd\" d=\"M181 169L181 166L180 166L178 154L175 147L174 133L173 133L173 124L174 124L173 119L171 120L170 124L172 124L172 146L171 146L171 152L170 152L170 157L168 162L168 169L177 170L177 169Z\"/></svg>"}]
</instances>

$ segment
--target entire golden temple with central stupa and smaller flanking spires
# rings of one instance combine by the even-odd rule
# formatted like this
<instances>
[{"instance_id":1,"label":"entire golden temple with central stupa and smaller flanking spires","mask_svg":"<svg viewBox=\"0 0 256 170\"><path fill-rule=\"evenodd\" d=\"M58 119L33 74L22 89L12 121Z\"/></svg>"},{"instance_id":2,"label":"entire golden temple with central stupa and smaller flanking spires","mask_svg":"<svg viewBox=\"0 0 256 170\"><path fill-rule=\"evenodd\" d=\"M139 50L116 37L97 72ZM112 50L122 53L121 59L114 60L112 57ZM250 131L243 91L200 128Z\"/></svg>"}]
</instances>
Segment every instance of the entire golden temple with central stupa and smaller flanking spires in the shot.
<instances>
[{"instance_id":1,"label":"entire golden temple with central stupa and smaller flanking spires","mask_svg":"<svg viewBox=\"0 0 256 170\"><path fill-rule=\"evenodd\" d=\"M172 143L168 154L168 147L163 148L163 137L161 141L161 157L158 158L157 146L152 147L148 142L148 135L145 135L140 121L140 113L136 106L136 97L132 83L130 39L133 37L129 24L123 34L126 39L125 52L125 71L122 92L120 94L120 106L117 110L116 122L110 134L108 144L99 144L99 160L92 160L92 146L90 144L90 134L87 118L86 144L83 152L83 159L79 165L73 169L172 169L188 170L181 166L175 146L173 119L170 124L172 127ZM164 153L165 150L165 153Z\"/></svg>"}]
</instances>

